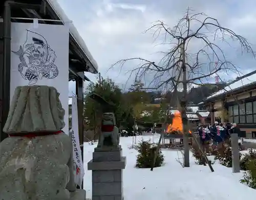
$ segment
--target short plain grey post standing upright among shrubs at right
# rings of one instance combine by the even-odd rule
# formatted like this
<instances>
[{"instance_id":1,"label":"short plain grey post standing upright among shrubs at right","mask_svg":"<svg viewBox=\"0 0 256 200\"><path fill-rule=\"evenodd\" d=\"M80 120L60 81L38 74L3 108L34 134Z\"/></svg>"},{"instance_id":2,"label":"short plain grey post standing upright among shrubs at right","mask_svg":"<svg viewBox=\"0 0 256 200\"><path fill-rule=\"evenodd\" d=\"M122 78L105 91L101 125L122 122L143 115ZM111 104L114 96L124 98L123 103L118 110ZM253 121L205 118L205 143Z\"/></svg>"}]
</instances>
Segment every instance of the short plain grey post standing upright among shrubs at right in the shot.
<instances>
[{"instance_id":1,"label":"short plain grey post standing upright among shrubs at right","mask_svg":"<svg viewBox=\"0 0 256 200\"><path fill-rule=\"evenodd\" d=\"M232 170L233 173L240 172L238 134L231 134Z\"/></svg>"}]
</instances>

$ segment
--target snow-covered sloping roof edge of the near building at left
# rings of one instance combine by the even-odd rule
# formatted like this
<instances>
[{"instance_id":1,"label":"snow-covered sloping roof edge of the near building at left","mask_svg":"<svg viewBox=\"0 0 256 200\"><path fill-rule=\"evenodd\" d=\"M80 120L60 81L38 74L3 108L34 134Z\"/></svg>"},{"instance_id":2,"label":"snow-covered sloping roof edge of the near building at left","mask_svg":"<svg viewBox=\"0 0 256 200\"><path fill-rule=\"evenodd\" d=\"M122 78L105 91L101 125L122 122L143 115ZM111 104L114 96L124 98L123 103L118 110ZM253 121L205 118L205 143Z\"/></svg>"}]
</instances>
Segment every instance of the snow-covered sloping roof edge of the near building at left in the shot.
<instances>
[{"instance_id":1,"label":"snow-covered sloping roof edge of the near building at left","mask_svg":"<svg viewBox=\"0 0 256 200\"><path fill-rule=\"evenodd\" d=\"M61 6L58 4L57 0L47 0L47 2L49 3L49 5L52 7L52 9L56 12L56 14L58 15L58 17L60 18L60 20L63 21L63 23L70 21L70 19L68 18L68 16L65 14L65 12L62 10ZM90 53L90 51L88 50L86 43L83 41L82 37L80 36L80 34L78 33L77 29L75 28L75 26L73 25L73 23L70 23L69 25L69 32L70 34L74 37L74 39L76 40L76 42L78 43L78 46L81 48L81 50L83 51L83 53L88 57L88 59L90 60L90 62L92 63L93 67L95 68L95 70L98 72L98 64L96 62L96 60L94 60L92 54ZM89 69L90 70L90 69ZM94 72L95 70L91 69L90 72Z\"/></svg>"}]
</instances>

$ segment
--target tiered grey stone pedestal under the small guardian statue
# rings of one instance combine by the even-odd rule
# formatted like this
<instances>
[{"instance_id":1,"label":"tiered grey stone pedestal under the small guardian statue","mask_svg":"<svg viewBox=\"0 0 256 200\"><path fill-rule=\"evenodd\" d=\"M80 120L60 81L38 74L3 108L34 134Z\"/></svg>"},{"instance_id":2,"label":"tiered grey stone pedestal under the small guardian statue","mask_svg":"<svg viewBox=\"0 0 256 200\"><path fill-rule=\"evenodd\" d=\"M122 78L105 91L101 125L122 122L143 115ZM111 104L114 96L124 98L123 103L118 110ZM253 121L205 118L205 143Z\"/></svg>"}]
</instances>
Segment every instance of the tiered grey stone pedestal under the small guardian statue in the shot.
<instances>
[{"instance_id":1,"label":"tiered grey stone pedestal under the small guardian statue","mask_svg":"<svg viewBox=\"0 0 256 200\"><path fill-rule=\"evenodd\" d=\"M122 157L122 149L95 148L93 159L88 163L92 170L92 200L123 199L123 169L126 157Z\"/></svg>"}]
</instances>

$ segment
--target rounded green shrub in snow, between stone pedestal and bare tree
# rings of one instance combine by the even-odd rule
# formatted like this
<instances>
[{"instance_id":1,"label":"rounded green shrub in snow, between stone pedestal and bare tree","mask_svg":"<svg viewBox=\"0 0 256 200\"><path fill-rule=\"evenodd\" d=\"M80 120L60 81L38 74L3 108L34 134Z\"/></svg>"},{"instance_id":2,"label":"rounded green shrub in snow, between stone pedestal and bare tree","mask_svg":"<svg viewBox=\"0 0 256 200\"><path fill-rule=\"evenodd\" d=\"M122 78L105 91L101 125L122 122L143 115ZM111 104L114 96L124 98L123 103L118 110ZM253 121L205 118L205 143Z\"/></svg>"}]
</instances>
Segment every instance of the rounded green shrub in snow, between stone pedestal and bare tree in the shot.
<instances>
[{"instance_id":1,"label":"rounded green shrub in snow, between stone pedestal and bare tree","mask_svg":"<svg viewBox=\"0 0 256 200\"><path fill-rule=\"evenodd\" d=\"M150 168L152 167L152 162L154 160L154 155L156 153L157 145L152 144L150 140L142 140L138 145L135 146L135 149L138 151L137 154L137 168ZM164 156L159 149L157 159L154 167L160 167L163 164Z\"/></svg>"}]
</instances>

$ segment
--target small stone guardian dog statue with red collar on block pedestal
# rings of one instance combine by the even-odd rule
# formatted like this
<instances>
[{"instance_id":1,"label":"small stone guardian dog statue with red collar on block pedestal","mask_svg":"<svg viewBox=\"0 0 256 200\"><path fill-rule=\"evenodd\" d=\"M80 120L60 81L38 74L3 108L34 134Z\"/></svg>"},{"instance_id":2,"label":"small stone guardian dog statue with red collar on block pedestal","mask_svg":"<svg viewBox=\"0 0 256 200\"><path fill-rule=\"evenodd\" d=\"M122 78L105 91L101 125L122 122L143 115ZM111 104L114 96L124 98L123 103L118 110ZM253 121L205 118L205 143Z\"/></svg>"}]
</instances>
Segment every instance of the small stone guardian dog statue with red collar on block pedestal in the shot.
<instances>
[{"instance_id":1,"label":"small stone guardian dog statue with red collar on block pedestal","mask_svg":"<svg viewBox=\"0 0 256 200\"><path fill-rule=\"evenodd\" d=\"M97 147L114 147L119 146L119 129L116 126L114 113L104 113L101 123L101 134Z\"/></svg>"}]
</instances>

